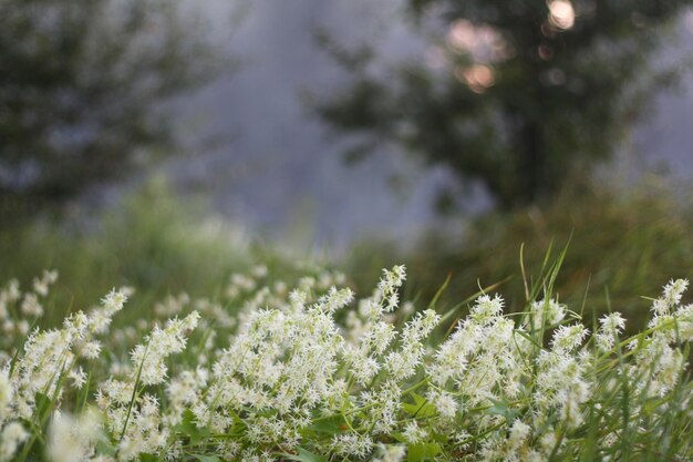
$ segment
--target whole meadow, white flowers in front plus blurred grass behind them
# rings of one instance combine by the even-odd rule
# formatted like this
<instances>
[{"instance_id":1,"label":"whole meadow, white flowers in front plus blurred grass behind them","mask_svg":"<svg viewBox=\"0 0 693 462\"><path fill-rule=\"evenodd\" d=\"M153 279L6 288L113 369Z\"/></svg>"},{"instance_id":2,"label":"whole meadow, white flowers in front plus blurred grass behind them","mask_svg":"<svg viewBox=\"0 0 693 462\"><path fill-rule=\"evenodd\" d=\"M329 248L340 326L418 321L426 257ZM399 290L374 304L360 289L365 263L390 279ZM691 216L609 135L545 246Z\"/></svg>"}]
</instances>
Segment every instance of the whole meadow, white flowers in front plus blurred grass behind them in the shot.
<instances>
[{"instance_id":1,"label":"whole meadow, white flowers in front plus blurred grass behind them","mask_svg":"<svg viewBox=\"0 0 693 462\"><path fill-rule=\"evenodd\" d=\"M161 191L4 228L0 462L692 460L693 213L591 194L332 269Z\"/></svg>"}]
</instances>

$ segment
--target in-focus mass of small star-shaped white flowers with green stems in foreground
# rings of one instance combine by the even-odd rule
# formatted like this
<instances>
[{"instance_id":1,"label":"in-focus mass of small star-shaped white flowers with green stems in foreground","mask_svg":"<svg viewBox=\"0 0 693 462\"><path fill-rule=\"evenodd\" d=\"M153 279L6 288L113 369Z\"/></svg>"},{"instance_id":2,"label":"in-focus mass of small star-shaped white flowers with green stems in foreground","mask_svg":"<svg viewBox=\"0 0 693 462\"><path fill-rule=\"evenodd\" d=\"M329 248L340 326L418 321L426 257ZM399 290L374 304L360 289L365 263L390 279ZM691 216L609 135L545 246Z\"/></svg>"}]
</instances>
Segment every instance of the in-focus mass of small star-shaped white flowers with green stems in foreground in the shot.
<instances>
[{"instance_id":1,"label":"in-focus mass of small star-shaped white flowers with green stems in foreground","mask_svg":"<svg viewBox=\"0 0 693 462\"><path fill-rule=\"evenodd\" d=\"M588 329L549 290L514 316L482 295L444 325L463 314L401 302L402 266L358 301L343 275L290 285L258 266L128 325L121 289L20 328L55 277L0 290L0 462L693 458L685 280L630 338L620 314Z\"/></svg>"}]
</instances>

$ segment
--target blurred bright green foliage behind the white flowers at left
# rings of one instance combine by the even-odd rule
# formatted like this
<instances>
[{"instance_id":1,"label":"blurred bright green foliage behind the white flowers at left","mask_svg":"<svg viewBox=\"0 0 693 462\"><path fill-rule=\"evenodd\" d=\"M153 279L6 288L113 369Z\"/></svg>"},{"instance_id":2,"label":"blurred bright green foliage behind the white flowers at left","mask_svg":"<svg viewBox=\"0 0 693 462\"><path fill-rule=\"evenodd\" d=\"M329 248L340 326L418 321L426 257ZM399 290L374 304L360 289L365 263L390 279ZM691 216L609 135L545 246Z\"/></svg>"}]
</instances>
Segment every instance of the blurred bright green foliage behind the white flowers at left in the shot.
<instances>
[{"instance_id":1,"label":"blurred bright green foliage behind the white flowers at left","mask_svg":"<svg viewBox=\"0 0 693 462\"><path fill-rule=\"evenodd\" d=\"M143 306L184 289L214 295L231 273L248 268L256 250L241 229L205 217L206 209L154 183L91 218L4 227L0 276L27 285L42 268L56 269L65 284L52 297L55 319L116 285L142 288L134 301ZM269 250L257 254L270 265L280 260Z\"/></svg>"}]
</instances>

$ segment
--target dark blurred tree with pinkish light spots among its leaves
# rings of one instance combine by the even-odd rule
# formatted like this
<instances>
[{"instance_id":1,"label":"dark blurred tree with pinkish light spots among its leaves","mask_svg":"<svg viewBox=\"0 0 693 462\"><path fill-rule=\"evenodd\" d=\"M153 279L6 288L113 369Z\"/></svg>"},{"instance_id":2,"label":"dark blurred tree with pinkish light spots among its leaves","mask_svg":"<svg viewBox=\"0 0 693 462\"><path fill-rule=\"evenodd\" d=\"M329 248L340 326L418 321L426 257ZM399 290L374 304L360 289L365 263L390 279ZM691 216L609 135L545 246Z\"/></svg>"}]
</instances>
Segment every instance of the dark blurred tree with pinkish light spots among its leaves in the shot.
<instances>
[{"instance_id":1,"label":"dark blurred tree with pinkish light spots among its leaves","mask_svg":"<svg viewBox=\"0 0 693 462\"><path fill-rule=\"evenodd\" d=\"M662 27L686 0L405 0L425 60L383 69L369 47L320 39L354 74L311 102L358 133L484 183L503 208L555 194L613 152L682 63L658 59ZM661 57L660 57L661 58ZM463 182L464 185L464 182Z\"/></svg>"}]
</instances>

